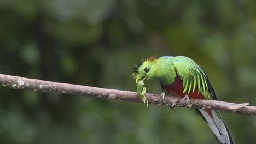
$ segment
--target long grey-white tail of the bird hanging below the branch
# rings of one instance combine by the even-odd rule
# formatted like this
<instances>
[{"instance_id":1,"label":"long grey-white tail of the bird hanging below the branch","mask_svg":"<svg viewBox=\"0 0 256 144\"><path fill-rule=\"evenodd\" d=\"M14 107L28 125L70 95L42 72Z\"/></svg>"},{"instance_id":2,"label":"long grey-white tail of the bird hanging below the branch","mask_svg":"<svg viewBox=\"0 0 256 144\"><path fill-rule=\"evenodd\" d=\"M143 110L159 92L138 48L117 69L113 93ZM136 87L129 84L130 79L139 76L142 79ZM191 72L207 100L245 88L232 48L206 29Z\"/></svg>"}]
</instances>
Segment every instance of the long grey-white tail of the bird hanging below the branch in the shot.
<instances>
[{"instance_id":1,"label":"long grey-white tail of the bird hanging below the branch","mask_svg":"<svg viewBox=\"0 0 256 144\"><path fill-rule=\"evenodd\" d=\"M199 112L201 116L205 119L213 134L218 137L220 142L226 144L235 143L228 127L226 127L226 124L218 111L198 109L197 112Z\"/></svg>"}]
</instances>

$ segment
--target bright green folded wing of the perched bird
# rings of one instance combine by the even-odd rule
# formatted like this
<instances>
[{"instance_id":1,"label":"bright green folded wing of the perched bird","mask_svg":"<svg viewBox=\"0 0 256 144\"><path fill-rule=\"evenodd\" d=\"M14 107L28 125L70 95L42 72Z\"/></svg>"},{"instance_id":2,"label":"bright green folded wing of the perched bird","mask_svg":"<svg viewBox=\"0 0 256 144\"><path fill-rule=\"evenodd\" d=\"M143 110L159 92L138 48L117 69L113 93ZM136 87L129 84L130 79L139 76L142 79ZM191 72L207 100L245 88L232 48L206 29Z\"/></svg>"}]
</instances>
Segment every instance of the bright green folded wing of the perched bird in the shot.
<instances>
[{"instance_id":1,"label":"bright green folded wing of the perched bird","mask_svg":"<svg viewBox=\"0 0 256 144\"><path fill-rule=\"evenodd\" d=\"M194 93L197 87L198 92L208 91L211 94L210 99L217 100L206 73L192 59L178 58L173 65L177 75L183 81L183 93Z\"/></svg>"}]
</instances>

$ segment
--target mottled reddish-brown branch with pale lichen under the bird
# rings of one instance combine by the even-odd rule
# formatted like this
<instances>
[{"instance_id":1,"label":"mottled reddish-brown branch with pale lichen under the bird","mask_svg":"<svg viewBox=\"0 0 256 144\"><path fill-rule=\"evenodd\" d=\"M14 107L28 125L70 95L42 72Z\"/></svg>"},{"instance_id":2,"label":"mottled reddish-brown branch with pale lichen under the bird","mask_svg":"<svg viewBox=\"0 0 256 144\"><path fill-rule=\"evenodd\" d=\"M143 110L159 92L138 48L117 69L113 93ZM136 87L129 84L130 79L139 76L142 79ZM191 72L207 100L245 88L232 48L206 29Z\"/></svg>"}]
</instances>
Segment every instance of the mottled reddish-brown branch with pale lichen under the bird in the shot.
<instances>
[{"instance_id":1,"label":"mottled reddish-brown branch with pale lichen under the bird","mask_svg":"<svg viewBox=\"0 0 256 144\"><path fill-rule=\"evenodd\" d=\"M14 89L29 89L36 92L57 92L71 95L83 95L87 97L96 97L104 99L115 99L124 101L133 101L142 103L136 95L136 92L120 91L115 89L97 88L89 86L72 85L67 83L42 81L37 79L27 79L19 76L10 76L0 74L0 83L3 86L8 86ZM190 107L193 109L211 109L224 112L237 113L240 115L255 116L256 107L247 106L249 103L234 104L217 100L199 100L189 99L186 104L185 101L181 103L182 98L175 96L166 96L164 100L157 94L145 94L149 104L162 106L178 106Z\"/></svg>"}]
</instances>

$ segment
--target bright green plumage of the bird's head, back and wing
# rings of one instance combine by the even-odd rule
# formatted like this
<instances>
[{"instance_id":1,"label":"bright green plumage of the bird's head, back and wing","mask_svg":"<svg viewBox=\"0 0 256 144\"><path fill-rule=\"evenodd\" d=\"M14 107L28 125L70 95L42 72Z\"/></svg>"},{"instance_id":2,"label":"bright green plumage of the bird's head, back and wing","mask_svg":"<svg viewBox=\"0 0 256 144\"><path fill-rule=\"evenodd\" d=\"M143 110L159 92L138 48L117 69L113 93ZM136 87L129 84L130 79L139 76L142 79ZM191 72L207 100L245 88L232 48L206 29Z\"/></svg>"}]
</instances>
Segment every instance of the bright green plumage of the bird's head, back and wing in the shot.
<instances>
[{"instance_id":1,"label":"bright green plumage of the bird's head, back and wing","mask_svg":"<svg viewBox=\"0 0 256 144\"><path fill-rule=\"evenodd\" d=\"M149 68L149 72L144 71ZM161 85L172 85L176 75L183 81L183 93L194 93L196 88L205 99L216 99L214 90L205 72L191 58L184 56L164 56L156 59L147 58L134 69L133 77L141 79L158 79Z\"/></svg>"}]
</instances>

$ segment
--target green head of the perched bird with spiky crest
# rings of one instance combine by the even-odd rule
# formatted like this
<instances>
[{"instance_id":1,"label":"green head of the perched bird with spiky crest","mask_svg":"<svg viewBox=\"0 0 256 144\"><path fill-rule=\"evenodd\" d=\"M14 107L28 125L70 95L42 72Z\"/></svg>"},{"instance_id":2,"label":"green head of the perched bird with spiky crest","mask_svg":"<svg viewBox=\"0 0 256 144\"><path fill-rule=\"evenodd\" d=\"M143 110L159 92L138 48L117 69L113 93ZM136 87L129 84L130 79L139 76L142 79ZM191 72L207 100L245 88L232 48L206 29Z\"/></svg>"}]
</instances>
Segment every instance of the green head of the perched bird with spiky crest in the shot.
<instances>
[{"instance_id":1,"label":"green head of the perched bird with spiky crest","mask_svg":"<svg viewBox=\"0 0 256 144\"><path fill-rule=\"evenodd\" d=\"M132 76L138 80L155 79L158 74L158 61L155 56L148 57L133 68Z\"/></svg>"}]
</instances>

